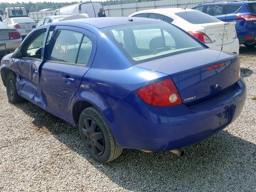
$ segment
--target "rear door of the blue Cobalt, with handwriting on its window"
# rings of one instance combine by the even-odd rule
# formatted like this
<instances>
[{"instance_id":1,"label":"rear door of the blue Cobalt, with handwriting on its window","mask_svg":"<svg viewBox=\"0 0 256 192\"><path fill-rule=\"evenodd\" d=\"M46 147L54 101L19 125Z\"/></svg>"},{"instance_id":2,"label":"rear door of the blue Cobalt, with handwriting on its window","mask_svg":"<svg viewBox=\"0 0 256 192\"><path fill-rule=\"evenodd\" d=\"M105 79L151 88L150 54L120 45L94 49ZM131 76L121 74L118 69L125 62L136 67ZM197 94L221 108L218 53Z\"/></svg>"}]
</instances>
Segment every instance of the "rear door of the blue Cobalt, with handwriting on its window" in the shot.
<instances>
[{"instance_id":1,"label":"rear door of the blue Cobalt, with handwriting on its window","mask_svg":"<svg viewBox=\"0 0 256 192\"><path fill-rule=\"evenodd\" d=\"M43 100L46 110L72 122L70 102L92 64L96 38L82 28L57 26L50 45L41 72Z\"/></svg>"}]
</instances>

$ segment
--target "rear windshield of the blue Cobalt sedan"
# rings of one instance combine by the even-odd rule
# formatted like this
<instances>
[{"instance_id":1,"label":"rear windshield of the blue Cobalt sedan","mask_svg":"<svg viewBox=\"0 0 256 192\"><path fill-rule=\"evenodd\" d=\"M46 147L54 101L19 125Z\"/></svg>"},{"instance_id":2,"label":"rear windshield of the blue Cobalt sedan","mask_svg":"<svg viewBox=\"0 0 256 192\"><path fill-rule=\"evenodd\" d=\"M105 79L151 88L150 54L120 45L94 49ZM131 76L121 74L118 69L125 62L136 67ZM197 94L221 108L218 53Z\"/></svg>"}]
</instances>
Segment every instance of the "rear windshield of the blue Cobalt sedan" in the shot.
<instances>
[{"instance_id":1,"label":"rear windshield of the blue Cobalt sedan","mask_svg":"<svg viewBox=\"0 0 256 192\"><path fill-rule=\"evenodd\" d=\"M103 28L132 64L204 49L186 32L166 22L129 24Z\"/></svg>"}]
</instances>

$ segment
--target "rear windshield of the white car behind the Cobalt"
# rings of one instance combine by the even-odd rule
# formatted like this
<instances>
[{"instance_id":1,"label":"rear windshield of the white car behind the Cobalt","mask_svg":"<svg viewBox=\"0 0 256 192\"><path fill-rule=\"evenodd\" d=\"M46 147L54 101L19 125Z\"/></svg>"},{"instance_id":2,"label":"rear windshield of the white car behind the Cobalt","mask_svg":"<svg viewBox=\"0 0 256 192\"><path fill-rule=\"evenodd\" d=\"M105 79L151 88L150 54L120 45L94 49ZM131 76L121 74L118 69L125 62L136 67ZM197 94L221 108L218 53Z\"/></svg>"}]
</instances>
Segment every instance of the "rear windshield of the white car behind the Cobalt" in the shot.
<instances>
[{"instance_id":1,"label":"rear windshield of the white car behind the Cobalt","mask_svg":"<svg viewBox=\"0 0 256 192\"><path fill-rule=\"evenodd\" d=\"M200 11L184 11L176 13L177 16L192 24L215 23L220 20Z\"/></svg>"}]
</instances>

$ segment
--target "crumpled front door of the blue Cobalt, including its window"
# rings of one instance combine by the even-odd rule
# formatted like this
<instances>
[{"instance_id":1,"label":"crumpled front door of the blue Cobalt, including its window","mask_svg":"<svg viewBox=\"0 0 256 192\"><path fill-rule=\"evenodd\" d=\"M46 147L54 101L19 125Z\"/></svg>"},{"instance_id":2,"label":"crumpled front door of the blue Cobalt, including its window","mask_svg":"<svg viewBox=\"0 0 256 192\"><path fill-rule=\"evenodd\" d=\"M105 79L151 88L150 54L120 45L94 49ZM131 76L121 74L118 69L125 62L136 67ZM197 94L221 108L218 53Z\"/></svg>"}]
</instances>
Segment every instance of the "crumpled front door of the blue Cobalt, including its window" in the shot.
<instances>
[{"instance_id":1,"label":"crumpled front door of the blue Cobalt, including its window","mask_svg":"<svg viewBox=\"0 0 256 192\"><path fill-rule=\"evenodd\" d=\"M40 92L39 68L43 62L42 48L45 42L47 29L36 30L20 46L21 59L15 59L14 65L21 79L18 83L18 92L28 100L45 108Z\"/></svg>"}]
</instances>

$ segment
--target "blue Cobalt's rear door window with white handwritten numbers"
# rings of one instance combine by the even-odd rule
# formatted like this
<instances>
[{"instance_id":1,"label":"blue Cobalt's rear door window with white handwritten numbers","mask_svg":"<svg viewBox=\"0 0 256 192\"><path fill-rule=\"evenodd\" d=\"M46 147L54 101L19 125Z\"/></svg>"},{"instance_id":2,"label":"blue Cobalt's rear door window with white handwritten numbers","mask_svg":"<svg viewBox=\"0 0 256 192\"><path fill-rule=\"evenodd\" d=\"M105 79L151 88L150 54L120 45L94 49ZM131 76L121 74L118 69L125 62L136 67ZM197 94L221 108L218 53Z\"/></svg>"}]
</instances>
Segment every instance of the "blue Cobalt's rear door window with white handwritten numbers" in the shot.
<instances>
[{"instance_id":1,"label":"blue Cobalt's rear door window with white handwritten numbers","mask_svg":"<svg viewBox=\"0 0 256 192\"><path fill-rule=\"evenodd\" d=\"M50 54L51 61L76 63L83 34L71 30L57 30Z\"/></svg>"}]
</instances>

